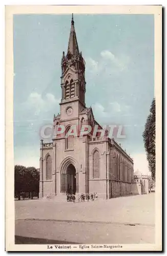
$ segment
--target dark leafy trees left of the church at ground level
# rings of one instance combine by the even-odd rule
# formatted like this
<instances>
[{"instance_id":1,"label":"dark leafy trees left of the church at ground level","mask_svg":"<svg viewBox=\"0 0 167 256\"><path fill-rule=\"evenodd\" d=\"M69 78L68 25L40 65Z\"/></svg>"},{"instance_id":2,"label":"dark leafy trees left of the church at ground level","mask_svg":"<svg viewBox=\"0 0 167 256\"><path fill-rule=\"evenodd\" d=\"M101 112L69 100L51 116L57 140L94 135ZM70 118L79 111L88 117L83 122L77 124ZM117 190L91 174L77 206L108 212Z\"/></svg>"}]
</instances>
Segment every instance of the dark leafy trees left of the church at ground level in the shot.
<instances>
[{"instance_id":1,"label":"dark leafy trees left of the church at ground level","mask_svg":"<svg viewBox=\"0 0 167 256\"><path fill-rule=\"evenodd\" d=\"M35 167L14 166L14 194L22 192L39 193L39 172Z\"/></svg>"}]
</instances>

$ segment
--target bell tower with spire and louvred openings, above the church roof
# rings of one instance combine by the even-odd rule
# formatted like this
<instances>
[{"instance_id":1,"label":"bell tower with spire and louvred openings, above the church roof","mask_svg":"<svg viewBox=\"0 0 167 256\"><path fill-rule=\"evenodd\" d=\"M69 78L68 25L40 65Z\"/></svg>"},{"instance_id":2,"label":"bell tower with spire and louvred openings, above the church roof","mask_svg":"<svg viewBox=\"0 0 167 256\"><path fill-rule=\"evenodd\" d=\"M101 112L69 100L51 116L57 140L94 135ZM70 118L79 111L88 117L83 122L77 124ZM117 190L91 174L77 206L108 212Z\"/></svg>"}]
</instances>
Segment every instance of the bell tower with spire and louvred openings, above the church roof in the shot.
<instances>
[{"instance_id":1,"label":"bell tower with spire and louvred openings, above the church roof","mask_svg":"<svg viewBox=\"0 0 167 256\"><path fill-rule=\"evenodd\" d=\"M67 115L70 115L75 107L74 116L76 117L81 109L86 108L85 93L85 60L79 52L72 14L67 54L62 52L61 58L60 111L67 112Z\"/></svg>"}]
</instances>

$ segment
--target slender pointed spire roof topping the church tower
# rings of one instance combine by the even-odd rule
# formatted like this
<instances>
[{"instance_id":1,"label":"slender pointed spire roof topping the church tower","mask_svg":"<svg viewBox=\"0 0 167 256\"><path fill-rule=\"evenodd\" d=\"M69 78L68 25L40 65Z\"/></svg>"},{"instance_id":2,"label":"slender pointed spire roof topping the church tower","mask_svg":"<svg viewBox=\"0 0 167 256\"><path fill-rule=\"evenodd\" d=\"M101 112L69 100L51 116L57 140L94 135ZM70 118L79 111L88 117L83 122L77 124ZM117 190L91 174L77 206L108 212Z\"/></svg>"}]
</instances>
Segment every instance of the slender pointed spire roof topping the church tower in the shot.
<instances>
[{"instance_id":1,"label":"slender pointed spire roof topping the church tower","mask_svg":"<svg viewBox=\"0 0 167 256\"><path fill-rule=\"evenodd\" d=\"M78 48L78 43L77 43L75 28L74 28L74 19L72 14L71 31L70 31L70 38L69 38L69 45L68 45L67 52L70 52L71 54L76 54L76 51L79 53L79 48Z\"/></svg>"}]
</instances>

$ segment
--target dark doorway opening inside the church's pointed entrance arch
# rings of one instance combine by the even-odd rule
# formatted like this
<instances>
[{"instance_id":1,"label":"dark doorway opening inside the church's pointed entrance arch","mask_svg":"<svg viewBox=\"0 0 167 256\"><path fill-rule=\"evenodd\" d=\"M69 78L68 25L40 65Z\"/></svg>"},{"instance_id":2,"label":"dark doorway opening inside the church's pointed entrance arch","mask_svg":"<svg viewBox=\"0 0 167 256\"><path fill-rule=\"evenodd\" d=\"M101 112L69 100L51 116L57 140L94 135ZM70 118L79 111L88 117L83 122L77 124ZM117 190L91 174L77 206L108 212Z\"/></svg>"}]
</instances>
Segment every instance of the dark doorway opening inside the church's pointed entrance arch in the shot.
<instances>
[{"instance_id":1,"label":"dark doorway opening inside the church's pointed entrance arch","mask_svg":"<svg viewBox=\"0 0 167 256\"><path fill-rule=\"evenodd\" d=\"M67 167L67 193L76 193L76 170L73 164Z\"/></svg>"}]
</instances>

